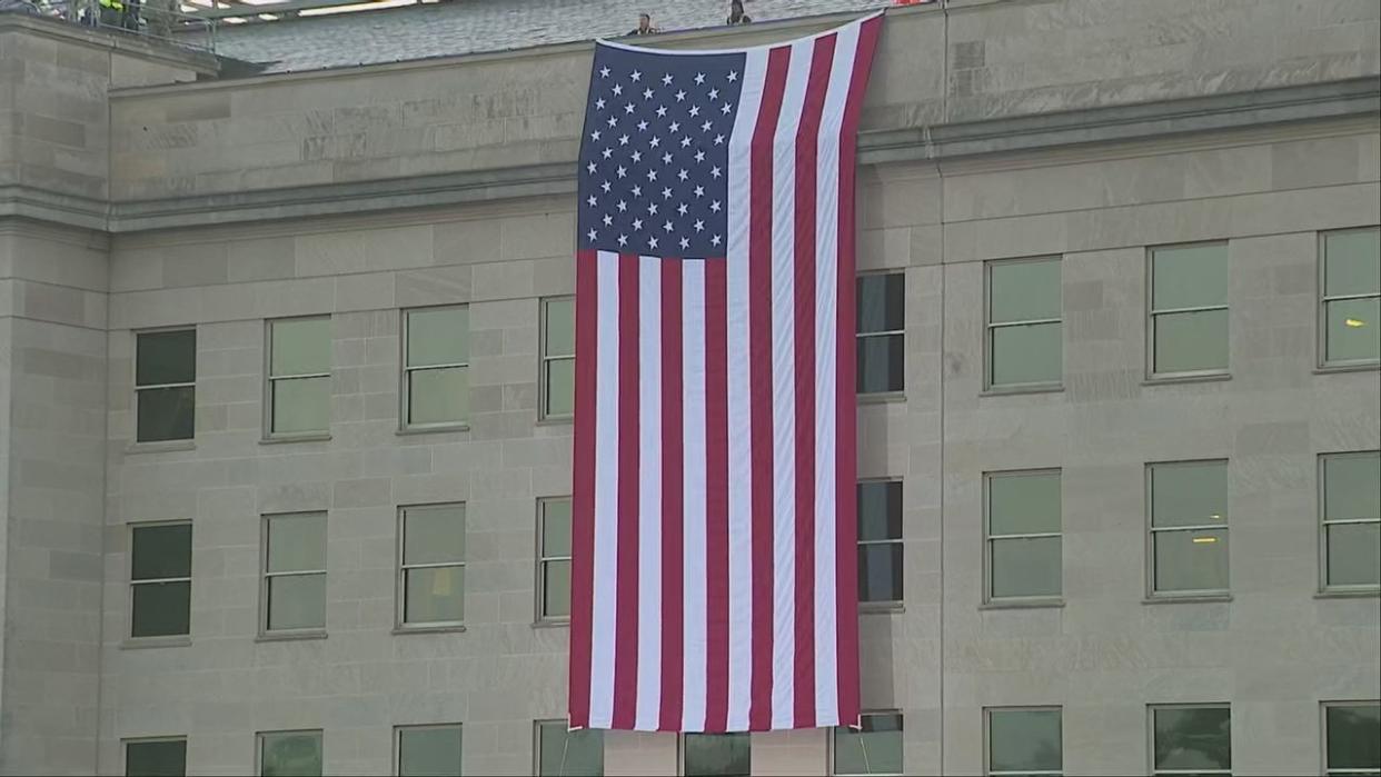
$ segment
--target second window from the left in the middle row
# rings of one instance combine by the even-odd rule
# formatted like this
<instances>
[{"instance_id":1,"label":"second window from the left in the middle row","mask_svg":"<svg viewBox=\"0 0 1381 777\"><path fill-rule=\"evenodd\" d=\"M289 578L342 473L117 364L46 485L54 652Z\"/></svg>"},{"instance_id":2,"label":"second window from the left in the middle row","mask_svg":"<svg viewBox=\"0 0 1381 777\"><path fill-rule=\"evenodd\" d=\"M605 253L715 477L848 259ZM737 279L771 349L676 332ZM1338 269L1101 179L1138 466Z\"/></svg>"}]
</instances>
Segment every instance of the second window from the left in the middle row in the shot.
<instances>
[{"instance_id":1,"label":"second window from the left in the middle row","mask_svg":"<svg viewBox=\"0 0 1381 777\"><path fill-rule=\"evenodd\" d=\"M326 513L264 516L264 631L326 628Z\"/></svg>"}]
</instances>

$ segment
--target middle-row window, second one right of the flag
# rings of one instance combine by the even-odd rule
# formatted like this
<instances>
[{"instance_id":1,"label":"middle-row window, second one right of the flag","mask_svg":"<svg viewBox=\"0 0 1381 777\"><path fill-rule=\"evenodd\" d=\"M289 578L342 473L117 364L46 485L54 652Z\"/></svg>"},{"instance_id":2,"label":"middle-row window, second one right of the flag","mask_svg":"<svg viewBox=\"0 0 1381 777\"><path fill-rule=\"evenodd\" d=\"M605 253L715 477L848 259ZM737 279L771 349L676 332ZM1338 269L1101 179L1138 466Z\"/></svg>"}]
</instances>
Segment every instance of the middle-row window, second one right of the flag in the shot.
<instances>
[{"instance_id":1,"label":"middle-row window, second one right of the flag","mask_svg":"<svg viewBox=\"0 0 1381 777\"><path fill-rule=\"evenodd\" d=\"M987 476L987 598L1059 596L1059 471Z\"/></svg>"}]
</instances>

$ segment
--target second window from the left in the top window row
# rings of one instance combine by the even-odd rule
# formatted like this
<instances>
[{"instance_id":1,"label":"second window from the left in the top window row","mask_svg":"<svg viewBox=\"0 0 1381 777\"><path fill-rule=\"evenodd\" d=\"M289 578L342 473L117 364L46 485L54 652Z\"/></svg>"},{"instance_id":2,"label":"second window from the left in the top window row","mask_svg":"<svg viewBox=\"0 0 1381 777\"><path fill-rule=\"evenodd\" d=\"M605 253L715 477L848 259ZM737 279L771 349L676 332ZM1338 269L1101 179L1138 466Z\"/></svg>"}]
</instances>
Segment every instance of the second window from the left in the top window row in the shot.
<instances>
[{"instance_id":1,"label":"second window from the left in the top window row","mask_svg":"<svg viewBox=\"0 0 1381 777\"><path fill-rule=\"evenodd\" d=\"M330 431L331 319L268 323L268 432L311 436Z\"/></svg>"}]
</instances>

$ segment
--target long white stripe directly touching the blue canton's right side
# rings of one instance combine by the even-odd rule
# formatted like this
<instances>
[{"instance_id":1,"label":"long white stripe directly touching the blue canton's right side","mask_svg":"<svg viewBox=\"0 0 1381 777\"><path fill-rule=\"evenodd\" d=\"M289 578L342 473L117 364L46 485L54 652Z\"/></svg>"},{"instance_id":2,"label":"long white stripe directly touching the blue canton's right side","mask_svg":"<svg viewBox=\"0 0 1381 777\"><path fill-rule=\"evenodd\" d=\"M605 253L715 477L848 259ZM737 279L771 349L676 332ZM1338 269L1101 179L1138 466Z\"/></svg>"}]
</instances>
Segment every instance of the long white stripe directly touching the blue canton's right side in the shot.
<instances>
[{"instance_id":1,"label":"long white stripe directly touching the blue canton's right side","mask_svg":"<svg viewBox=\"0 0 1381 777\"><path fill-rule=\"evenodd\" d=\"M766 50L743 65L739 115L729 137L728 373L729 373L729 719L749 727L753 689L753 522L749 403L749 222L753 128L766 75Z\"/></svg>"}]
</instances>

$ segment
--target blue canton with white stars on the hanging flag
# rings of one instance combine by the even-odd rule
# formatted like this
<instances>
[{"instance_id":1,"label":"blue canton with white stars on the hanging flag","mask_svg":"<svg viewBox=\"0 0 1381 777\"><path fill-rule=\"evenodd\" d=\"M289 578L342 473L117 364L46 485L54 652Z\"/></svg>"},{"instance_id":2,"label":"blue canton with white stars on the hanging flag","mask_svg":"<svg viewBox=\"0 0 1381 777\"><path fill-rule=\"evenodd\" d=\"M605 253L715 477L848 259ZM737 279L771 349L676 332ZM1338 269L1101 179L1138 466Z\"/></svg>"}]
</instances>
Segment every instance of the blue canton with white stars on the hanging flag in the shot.
<instances>
[{"instance_id":1,"label":"blue canton with white stars on the hanging flag","mask_svg":"<svg viewBox=\"0 0 1381 777\"><path fill-rule=\"evenodd\" d=\"M725 255L744 59L595 47L580 142L580 248Z\"/></svg>"}]
</instances>

